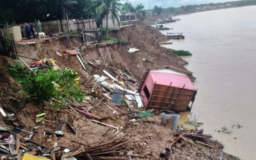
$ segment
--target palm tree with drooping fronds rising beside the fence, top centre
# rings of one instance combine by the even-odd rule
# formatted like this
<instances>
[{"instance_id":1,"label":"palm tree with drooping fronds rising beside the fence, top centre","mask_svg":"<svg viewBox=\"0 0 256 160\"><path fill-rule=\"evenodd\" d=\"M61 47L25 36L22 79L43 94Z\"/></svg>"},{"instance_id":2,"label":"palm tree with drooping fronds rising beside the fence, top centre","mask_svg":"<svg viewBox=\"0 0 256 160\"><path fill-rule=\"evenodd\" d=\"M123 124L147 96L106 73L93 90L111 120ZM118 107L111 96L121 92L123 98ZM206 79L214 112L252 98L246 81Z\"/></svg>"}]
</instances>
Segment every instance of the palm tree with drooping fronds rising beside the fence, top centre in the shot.
<instances>
[{"instance_id":1,"label":"palm tree with drooping fronds rising beside the fence, top centre","mask_svg":"<svg viewBox=\"0 0 256 160\"><path fill-rule=\"evenodd\" d=\"M100 4L96 8L96 22L97 24L101 24L103 20L106 17L106 30L107 30L107 36L108 36L108 18L109 14L112 15L112 20L113 23L115 20L117 20L118 25L120 25L120 15L119 13L121 12L121 6L122 3L119 3L120 0L97 0L98 3Z\"/></svg>"}]
</instances>

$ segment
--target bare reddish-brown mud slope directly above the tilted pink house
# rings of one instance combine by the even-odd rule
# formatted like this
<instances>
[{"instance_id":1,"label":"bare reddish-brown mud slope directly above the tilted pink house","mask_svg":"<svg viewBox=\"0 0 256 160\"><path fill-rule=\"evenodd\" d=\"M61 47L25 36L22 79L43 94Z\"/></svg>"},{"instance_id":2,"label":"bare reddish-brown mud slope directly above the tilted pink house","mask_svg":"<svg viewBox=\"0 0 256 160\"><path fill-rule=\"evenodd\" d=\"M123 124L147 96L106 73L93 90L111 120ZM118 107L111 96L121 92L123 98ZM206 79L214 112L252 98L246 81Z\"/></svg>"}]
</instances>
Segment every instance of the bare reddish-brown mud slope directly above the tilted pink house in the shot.
<instances>
[{"instance_id":1,"label":"bare reddish-brown mud slope directly above the tilted pink house","mask_svg":"<svg viewBox=\"0 0 256 160\"><path fill-rule=\"evenodd\" d=\"M166 38L155 28L145 26L138 22L134 26L121 28L119 31L113 31L113 36L118 40L130 42L131 44L118 47L113 46L113 61L116 67L127 66L131 72L141 76L143 70L148 67L163 65L172 65L173 67L185 69L187 63L179 56L170 53L159 45ZM140 51L129 53L129 48L138 48ZM142 61L145 58L148 62Z\"/></svg>"}]
</instances>

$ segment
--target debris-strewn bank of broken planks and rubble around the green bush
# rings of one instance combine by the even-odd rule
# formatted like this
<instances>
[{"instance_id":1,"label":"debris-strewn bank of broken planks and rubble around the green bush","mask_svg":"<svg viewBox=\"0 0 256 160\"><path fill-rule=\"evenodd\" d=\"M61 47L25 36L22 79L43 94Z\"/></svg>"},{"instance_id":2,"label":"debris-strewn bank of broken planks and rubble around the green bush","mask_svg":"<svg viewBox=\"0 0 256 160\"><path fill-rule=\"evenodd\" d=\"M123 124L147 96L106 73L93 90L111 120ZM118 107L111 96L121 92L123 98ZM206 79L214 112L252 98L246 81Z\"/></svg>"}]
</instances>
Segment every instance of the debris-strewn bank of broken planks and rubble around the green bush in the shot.
<instances>
[{"instance_id":1,"label":"debris-strewn bank of broken planks and rubble around the green bush","mask_svg":"<svg viewBox=\"0 0 256 160\"><path fill-rule=\"evenodd\" d=\"M125 31L127 30L124 28L122 33ZM154 48L153 42L157 38L152 36L148 39ZM49 45L52 45L51 41L50 39ZM66 46L63 45L64 42L58 43L61 47ZM140 52L136 54L127 54L127 48L116 49L116 44L107 44L104 47L97 45L97 51L92 51L99 54L95 57L92 52L90 55L84 53L86 49L90 51L90 47L94 49L93 45L68 49L60 46L55 44L49 47L51 52L42 48L33 50L31 52L37 53L28 57L36 60L51 57L60 68L70 67L76 70L84 99L81 102L66 100L67 108L53 109L49 102L36 104L33 99L18 99L16 91L21 86L4 70L4 67L13 65L10 63L12 60L0 58L0 112L3 117L15 117L0 122L1 159L237 159L225 154L223 146L212 141L211 135L187 131L185 128L172 131L170 127L161 124L161 115L157 109L144 108L138 93L141 80L138 74L143 70L134 67L145 63L141 61L145 55L138 56L146 50L143 49L143 40L138 44ZM127 61L128 58L118 62L120 55L115 57L118 55L115 51L120 49L124 50L121 56L130 58L125 67L122 66L122 61ZM170 56L166 50L163 51L161 59ZM129 56L138 56L138 60L134 60L138 63L133 64L134 61L131 60L134 58ZM148 61L154 61L157 54L152 53L150 56ZM173 57L173 61L180 60L177 56ZM32 60L26 58L24 64L28 61L30 63ZM161 60L156 63L161 63ZM166 63L169 61L166 60ZM150 67L149 63L145 64L143 67ZM175 67L184 64L184 61L173 63ZM21 102L23 105L17 106Z\"/></svg>"}]
</instances>

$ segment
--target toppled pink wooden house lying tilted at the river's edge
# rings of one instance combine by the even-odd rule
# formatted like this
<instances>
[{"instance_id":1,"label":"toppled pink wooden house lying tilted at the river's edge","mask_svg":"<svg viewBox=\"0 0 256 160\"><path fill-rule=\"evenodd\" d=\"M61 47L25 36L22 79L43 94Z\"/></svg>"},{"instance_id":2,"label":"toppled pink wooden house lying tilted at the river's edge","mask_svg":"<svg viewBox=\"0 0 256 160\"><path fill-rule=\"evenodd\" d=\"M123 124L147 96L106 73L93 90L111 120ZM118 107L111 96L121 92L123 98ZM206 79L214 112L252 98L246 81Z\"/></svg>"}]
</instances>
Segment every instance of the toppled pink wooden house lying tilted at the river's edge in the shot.
<instances>
[{"instance_id":1,"label":"toppled pink wooden house lying tilted at the river's edge","mask_svg":"<svg viewBox=\"0 0 256 160\"><path fill-rule=\"evenodd\" d=\"M147 109L186 111L195 100L195 86L189 79L192 72L164 66L147 68L139 87Z\"/></svg>"}]
</instances>

